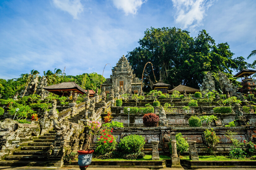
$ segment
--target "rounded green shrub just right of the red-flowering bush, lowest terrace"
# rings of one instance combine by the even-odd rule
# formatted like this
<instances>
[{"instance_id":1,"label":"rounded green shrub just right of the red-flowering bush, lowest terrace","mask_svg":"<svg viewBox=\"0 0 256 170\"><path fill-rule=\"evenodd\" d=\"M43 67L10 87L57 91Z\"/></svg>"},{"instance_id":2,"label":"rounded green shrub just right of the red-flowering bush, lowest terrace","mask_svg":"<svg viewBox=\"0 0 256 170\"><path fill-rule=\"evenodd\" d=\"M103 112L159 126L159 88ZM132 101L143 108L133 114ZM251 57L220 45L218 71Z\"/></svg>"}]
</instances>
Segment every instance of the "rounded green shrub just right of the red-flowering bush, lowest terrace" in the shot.
<instances>
[{"instance_id":1,"label":"rounded green shrub just right of the red-flowering bush, lowest terrace","mask_svg":"<svg viewBox=\"0 0 256 170\"><path fill-rule=\"evenodd\" d=\"M131 134L129 136L125 136L119 142L119 150L123 153L131 154L138 153L144 149L145 138L137 135Z\"/></svg>"}]
</instances>

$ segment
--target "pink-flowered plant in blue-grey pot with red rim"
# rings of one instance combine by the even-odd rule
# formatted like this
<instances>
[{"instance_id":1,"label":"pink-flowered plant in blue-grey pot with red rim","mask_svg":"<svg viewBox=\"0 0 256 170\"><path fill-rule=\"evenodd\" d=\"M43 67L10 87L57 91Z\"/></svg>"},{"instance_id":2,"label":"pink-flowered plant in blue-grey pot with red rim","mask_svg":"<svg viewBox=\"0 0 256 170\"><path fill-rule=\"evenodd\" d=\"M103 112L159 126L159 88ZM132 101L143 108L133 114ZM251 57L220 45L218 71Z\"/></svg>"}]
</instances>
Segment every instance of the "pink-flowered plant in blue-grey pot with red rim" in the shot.
<instances>
[{"instance_id":1,"label":"pink-flowered plant in blue-grey pot with red rim","mask_svg":"<svg viewBox=\"0 0 256 170\"><path fill-rule=\"evenodd\" d=\"M93 141L93 135L100 131L101 123L99 121L89 121L87 127L89 128L89 136L85 148L82 151L77 151L78 165L81 170L86 169L92 162L93 150L90 150L90 145Z\"/></svg>"}]
</instances>

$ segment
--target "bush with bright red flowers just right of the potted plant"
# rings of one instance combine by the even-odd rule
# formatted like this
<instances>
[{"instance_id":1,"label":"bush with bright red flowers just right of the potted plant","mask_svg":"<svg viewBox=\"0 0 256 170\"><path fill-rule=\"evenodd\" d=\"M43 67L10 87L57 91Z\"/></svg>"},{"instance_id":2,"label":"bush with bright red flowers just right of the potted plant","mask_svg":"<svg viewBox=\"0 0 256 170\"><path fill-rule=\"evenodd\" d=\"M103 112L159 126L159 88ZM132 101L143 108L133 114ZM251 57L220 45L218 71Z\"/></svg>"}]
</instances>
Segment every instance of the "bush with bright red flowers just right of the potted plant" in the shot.
<instances>
[{"instance_id":1,"label":"bush with bright red flowers just right of the potted plant","mask_svg":"<svg viewBox=\"0 0 256 170\"><path fill-rule=\"evenodd\" d=\"M113 129L102 129L99 133L99 137L97 138L97 148L95 149L95 154L104 155L108 152L111 152L115 149L115 145L117 144L115 136L111 133Z\"/></svg>"}]
</instances>

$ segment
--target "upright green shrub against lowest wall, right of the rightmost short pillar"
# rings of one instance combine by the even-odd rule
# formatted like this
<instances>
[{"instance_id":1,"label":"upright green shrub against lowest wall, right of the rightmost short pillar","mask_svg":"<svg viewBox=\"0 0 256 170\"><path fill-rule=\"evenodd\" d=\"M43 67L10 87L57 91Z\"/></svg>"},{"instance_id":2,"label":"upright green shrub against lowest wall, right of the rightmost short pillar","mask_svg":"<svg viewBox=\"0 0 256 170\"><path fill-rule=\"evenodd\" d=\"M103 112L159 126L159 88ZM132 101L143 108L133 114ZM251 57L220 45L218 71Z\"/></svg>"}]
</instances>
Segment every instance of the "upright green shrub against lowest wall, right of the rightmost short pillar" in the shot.
<instances>
[{"instance_id":1,"label":"upright green shrub against lowest wall, right of the rightmost short pillar","mask_svg":"<svg viewBox=\"0 0 256 170\"><path fill-rule=\"evenodd\" d=\"M206 129L204 131L205 140L208 145L208 152L210 155L216 155L216 146L219 141L219 137L216 135L213 129Z\"/></svg>"}]
</instances>

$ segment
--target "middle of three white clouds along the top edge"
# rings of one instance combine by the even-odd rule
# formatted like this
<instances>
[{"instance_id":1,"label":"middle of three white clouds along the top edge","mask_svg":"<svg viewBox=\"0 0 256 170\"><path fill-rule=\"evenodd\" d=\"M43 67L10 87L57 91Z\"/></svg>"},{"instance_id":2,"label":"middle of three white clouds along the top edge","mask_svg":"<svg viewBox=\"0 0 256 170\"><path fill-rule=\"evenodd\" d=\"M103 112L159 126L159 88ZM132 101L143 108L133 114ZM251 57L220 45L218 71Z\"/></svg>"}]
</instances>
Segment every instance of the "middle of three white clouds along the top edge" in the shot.
<instances>
[{"instance_id":1,"label":"middle of three white clouds along the top edge","mask_svg":"<svg viewBox=\"0 0 256 170\"><path fill-rule=\"evenodd\" d=\"M117 9L124 10L125 15L136 14L137 10L147 0L112 0Z\"/></svg>"}]
</instances>

